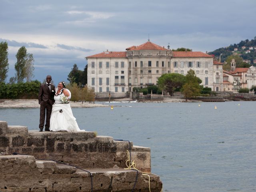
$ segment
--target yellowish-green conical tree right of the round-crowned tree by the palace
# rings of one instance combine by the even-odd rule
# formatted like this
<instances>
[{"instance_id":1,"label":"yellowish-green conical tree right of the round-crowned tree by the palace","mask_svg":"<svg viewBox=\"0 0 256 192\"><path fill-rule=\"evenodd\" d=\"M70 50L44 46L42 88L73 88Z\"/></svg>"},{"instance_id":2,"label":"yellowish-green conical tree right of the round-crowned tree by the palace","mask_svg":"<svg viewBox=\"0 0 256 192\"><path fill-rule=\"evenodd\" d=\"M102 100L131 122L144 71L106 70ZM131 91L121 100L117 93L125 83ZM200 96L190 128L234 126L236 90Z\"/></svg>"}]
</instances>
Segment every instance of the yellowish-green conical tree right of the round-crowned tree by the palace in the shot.
<instances>
[{"instance_id":1,"label":"yellowish-green conical tree right of the round-crowned tree by the palace","mask_svg":"<svg viewBox=\"0 0 256 192\"><path fill-rule=\"evenodd\" d=\"M182 86L181 92L184 94L184 97L186 98L186 102L188 101L188 98L196 97L200 95L200 82L198 80L199 78L196 77L196 74L194 70L190 69L188 73L186 74L185 80L186 83Z\"/></svg>"}]
</instances>

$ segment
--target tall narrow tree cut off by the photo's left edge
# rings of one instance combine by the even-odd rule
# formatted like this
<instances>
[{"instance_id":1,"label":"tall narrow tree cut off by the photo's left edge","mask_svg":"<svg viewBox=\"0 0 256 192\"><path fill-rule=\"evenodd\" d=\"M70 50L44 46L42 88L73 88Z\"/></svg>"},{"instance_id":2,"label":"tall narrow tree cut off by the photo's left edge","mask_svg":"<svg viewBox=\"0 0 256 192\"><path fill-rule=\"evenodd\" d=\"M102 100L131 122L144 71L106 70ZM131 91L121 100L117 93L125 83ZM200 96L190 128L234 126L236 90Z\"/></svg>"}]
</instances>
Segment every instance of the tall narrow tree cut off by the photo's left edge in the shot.
<instances>
[{"instance_id":1,"label":"tall narrow tree cut off by the photo's left edge","mask_svg":"<svg viewBox=\"0 0 256 192\"><path fill-rule=\"evenodd\" d=\"M7 42L0 43L0 82L4 82L8 76L8 44Z\"/></svg>"}]
</instances>

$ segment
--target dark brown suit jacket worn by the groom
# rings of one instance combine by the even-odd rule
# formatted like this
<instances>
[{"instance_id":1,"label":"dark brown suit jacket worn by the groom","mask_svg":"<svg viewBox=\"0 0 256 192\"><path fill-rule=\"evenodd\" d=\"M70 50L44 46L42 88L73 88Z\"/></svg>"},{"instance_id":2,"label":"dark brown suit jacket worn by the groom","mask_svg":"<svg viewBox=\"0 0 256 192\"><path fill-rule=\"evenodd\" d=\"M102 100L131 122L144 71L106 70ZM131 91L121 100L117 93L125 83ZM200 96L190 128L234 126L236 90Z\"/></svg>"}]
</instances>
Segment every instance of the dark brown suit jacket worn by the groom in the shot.
<instances>
[{"instance_id":1,"label":"dark brown suit jacket worn by the groom","mask_svg":"<svg viewBox=\"0 0 256 192\"><path fill-rule=\"evenodd\" d=\"M41 102L50 102L50 104L54 104L54 94L55 94L55 86L51 84L51 89L49 90L46 83L41 84L38 93L38 103Z\"/></svg>"}]
</instances>

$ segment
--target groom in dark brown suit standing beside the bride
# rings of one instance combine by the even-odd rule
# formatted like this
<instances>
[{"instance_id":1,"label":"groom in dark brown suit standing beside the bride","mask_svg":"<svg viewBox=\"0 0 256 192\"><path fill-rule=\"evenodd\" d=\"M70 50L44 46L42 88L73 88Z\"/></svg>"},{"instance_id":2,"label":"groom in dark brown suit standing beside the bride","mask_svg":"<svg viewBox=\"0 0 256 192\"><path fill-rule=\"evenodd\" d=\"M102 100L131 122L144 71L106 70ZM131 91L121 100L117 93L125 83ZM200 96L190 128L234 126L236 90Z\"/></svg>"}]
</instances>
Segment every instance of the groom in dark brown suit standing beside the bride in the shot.
<instances>
[{"instance_id":1,"label":"groom in dark brown suit standing beside the bride","mask_svg":"<svg viewBox=\"0 0 256 192\"><path fill-rule=\"evenodd\" d=\"M39 129L43 131L45 112L46 124L45 131L50 131L50 117L52 113L52 105L54 104L55 86L51 84L52 76L46 76L46 83L40 85L38 94L38 103L40 104L40 124Z\"/></svg>"}]
</instances>

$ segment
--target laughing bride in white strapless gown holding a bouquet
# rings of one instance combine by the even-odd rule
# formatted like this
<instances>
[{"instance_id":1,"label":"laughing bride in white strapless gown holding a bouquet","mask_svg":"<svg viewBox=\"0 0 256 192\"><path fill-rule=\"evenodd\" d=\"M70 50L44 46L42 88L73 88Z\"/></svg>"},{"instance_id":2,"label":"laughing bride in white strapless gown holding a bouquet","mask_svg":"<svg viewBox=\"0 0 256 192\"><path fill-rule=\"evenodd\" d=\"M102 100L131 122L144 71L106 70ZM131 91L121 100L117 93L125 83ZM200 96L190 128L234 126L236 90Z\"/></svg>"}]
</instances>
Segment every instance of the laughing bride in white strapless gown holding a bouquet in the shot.
<instances>
[{"instance_id":1,"label":"laughing bride in white strapless gown holding a bouquet","mask_svg":"<svg viewBox=\"0 0 256 192\"><path fill-rule=\"evenodd\" d=\"M64 82L59 82L55 90L52 106L52 114L50 118L50 131L81 131L74 118L69 100L71 92L66 89Z\"/></svg>"}]
</instances>

